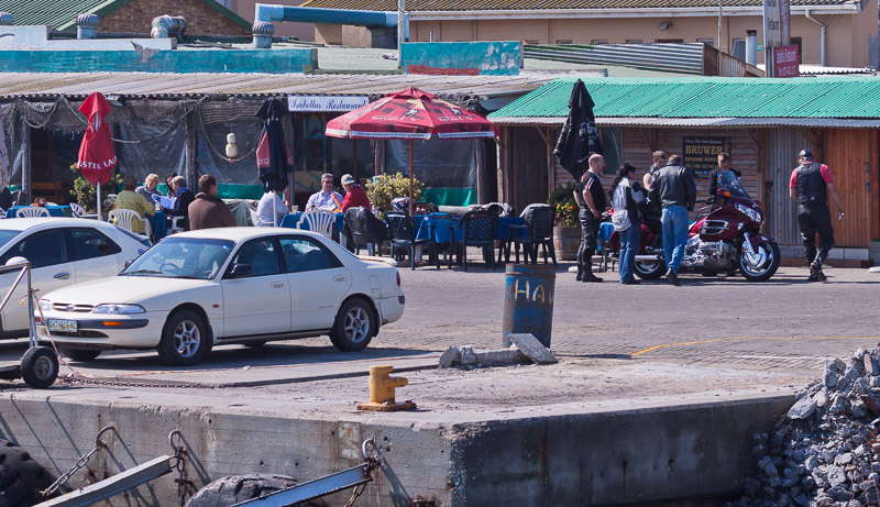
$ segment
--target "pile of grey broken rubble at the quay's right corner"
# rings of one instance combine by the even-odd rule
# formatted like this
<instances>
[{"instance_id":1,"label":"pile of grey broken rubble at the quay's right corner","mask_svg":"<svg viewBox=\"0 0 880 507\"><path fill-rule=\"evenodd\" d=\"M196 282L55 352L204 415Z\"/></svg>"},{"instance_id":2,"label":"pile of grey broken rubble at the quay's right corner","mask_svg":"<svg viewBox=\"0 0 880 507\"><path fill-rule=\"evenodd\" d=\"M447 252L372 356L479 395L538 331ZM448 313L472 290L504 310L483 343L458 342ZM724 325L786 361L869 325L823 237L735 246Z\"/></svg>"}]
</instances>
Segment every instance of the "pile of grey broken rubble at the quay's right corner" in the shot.
<instances>
[{"instance_id":1,"label":"pile of grey broken rubble at the quay's right corner","mask_svg":"<svg viewBox=\"0 0 880 507\"><path fill-rule=\"evenodd\" d=\"M756 434L757 474L729 507L880 505L880 349L825 365L772 434Z\"/></svg>"}]
</instances>

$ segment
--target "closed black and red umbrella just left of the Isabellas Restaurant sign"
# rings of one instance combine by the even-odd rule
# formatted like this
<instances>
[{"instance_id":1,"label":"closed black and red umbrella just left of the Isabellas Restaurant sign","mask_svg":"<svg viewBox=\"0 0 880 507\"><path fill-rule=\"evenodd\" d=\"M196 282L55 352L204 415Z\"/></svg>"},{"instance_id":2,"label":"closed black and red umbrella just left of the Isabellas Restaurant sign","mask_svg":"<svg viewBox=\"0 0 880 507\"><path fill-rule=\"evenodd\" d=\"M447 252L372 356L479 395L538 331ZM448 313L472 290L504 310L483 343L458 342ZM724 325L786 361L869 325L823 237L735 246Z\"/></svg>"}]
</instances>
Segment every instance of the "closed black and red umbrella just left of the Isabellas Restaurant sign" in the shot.
<instances>
[{"instance_id":1,"label":"closed black and red umbrella just left of the Isabellas Restaurant sign","mask_svg":"<svg viewBox=\"0 0 880 507\"><path fill-rule=\"evenodd\" d=\"M260 145L256 148L256 166L260 169L260 180L263 181L265 191L275 192L287 188L287 174L292 170L294 158L287 143L284 142L284 128L282 118L287 114L287 107L278 99L272 98L263 102L254 114L265 122ZM272 201L273 217L277 225L278 213L275 209L275 199Z\"/></svg>"}]
</instances>

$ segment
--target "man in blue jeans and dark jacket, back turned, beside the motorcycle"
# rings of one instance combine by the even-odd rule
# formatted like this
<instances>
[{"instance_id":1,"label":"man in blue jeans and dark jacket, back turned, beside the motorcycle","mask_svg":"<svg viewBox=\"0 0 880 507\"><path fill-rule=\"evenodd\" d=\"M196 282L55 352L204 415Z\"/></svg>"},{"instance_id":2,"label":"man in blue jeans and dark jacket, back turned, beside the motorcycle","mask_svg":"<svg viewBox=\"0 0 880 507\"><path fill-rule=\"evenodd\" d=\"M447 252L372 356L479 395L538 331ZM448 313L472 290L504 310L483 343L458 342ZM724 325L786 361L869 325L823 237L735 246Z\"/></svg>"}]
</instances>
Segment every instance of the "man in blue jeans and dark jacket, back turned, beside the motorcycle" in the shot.
<instances>
[{"instance_id":1,"label":"man in blue jeans and dark jacket, back turned, beside the motorcycle","mask_svg":"<svg viewBox=\"0 0 880 507\"><path fill-rule=\"evenodd\" d=\"M667 278L679 285L679 265L688 242L688 211L696 202L696 185L691 170L681 165L681 156L672 155L669 163L653 176L651 200L663 209L663 254Z\"/></svg>"}]
</instances>

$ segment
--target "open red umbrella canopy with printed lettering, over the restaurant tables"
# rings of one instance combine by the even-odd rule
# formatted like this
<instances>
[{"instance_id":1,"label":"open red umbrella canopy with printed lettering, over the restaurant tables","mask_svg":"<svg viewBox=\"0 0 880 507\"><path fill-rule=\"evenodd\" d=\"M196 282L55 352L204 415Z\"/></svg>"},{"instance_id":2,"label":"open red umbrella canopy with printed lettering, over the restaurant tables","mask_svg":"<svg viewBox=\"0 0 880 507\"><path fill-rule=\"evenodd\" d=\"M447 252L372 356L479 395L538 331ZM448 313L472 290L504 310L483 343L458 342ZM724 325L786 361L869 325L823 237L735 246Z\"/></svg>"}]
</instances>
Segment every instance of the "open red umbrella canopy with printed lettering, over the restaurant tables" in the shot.
<instances>
[{"instance_id":1,"label":"open red umbrella canopy with printed lettering, over the restaurant tables","mask_svg":"<svg viewBox=\"0 0 880 507\"><path fill-rule=\"evenodd\" d=\"M498 129L475 112L409 87L327 123L327 135L354 139L495 137Z\"/></svg>"}]
</instances>

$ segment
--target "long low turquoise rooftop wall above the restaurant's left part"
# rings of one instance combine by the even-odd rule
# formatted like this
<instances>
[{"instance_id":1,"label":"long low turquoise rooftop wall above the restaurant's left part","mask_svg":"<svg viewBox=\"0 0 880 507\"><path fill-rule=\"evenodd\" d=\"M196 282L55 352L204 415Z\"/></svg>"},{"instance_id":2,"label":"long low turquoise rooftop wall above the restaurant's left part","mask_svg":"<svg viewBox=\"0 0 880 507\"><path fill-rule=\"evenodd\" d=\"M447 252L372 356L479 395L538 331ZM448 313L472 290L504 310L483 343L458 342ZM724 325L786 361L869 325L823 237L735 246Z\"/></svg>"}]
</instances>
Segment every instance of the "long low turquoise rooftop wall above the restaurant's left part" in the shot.
<instances>
[{"instance_id":1,"label":"long low turquoise rooftop wall above the restaurant's left part","mask_svg":"<svg viewBox=\"0 0 880 507\"><path fill-rule=\"evenodd\" d=\"M0 51L0 73L302 73L307 49Z\"/></svg>"}]
</instances>

